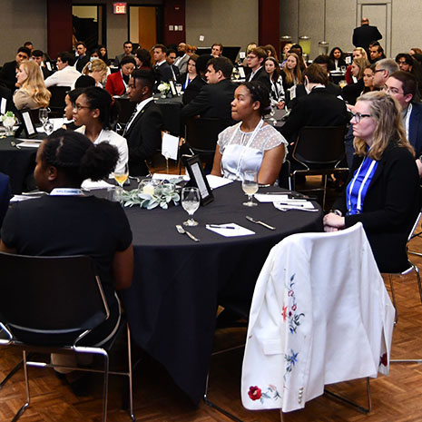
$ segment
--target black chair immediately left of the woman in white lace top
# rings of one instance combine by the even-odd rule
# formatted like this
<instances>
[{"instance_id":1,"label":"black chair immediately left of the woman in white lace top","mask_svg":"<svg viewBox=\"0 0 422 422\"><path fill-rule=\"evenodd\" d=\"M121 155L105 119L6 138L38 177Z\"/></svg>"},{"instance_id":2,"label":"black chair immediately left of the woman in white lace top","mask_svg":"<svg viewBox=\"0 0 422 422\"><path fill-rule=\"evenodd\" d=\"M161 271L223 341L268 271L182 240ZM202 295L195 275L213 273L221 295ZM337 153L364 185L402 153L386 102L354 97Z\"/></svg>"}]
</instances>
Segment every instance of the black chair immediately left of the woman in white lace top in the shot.
<instances>
[{"instance_id":1,"label":"black chair immediately left of the woman in white lace top","mask_svg":"<svg viewBox=\"0 0 422 422\"><path fill-rule=\"evenodd\" d=\"M186 120L185 141L192 154L199 155L201 162L212 165L219 133L226 125L220 119L195 118Z\"/></svg>"}]
</instances>

